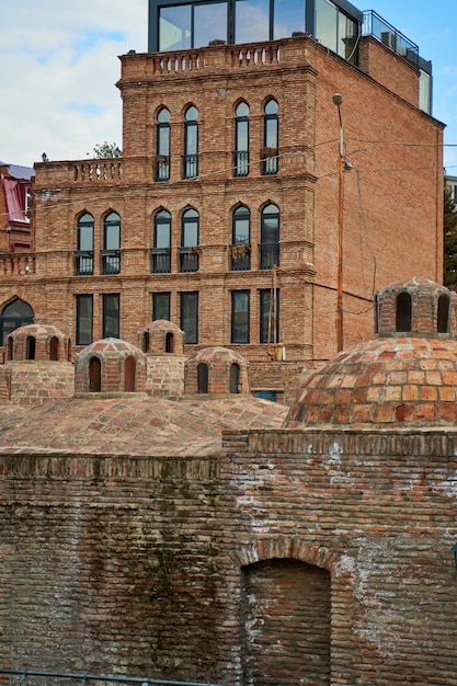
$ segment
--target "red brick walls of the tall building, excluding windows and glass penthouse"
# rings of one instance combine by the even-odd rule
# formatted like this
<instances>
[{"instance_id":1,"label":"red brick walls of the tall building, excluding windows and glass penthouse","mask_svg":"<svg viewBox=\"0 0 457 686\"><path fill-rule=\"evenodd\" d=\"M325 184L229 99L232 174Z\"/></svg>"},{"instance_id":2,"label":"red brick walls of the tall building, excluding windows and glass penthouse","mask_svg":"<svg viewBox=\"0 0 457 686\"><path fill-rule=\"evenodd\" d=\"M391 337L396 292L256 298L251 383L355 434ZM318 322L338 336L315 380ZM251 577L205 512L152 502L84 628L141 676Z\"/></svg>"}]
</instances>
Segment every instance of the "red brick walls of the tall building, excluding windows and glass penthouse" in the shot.
<instances>
[{"instance_id":1,"label":"red brick walls of the tall building, excluding windows and glass penthouse","mask_svg":"<svg viewBox=\"0 0 457 686\"><path fill-rule=\"evenodd\" d=\"M297 364L327 359L335 350L340 159L332 95L340 92L345 156L353 165L344 172L344 345L367 338L376 288L414 274L442 279L443 126L416 106L414 67L370 37L361 39L359 50L362 69L309 36L123 56L123 157L36 164L30 271L4 270L1 307L23 299L36 322L59 327L78 350L80 295L93 296L92 340L106 333L104 297L114 295L118 336L137 344L138 332L156 317L155 294L169 294L169 316L180 328L182 294L197 294L196 336L185 352L231 346L249 361L250 385L259 388L258 367L272 356L261 343L261 298L265 322L275 284L286 359L272 362L269 376L282 392ZM269 100L278 105L277 170L264 174ZM249 104L250 172L235 176L235 108L241 101ZM195 179L182 179L188 105L198 111ZM157 156L161 107L170 112L168 181L156 180L165 163ZM231 248L239 207L250 213L245 271L232 268L240 258ZM275 275L259 268L262 211L269 207L276 208L279 225ZM198 245L188 250L198 268L182 272L182 221L190 208L198 213ZM161 210L171 217L170 273L152 273L155 217ZM103 274L111 211L121 220L118 274ZM77 227L85 213L93 218L93 274L77 275ZM233 291L248 308L242 342L233 340Z\"/></svg>"}]
</instances>

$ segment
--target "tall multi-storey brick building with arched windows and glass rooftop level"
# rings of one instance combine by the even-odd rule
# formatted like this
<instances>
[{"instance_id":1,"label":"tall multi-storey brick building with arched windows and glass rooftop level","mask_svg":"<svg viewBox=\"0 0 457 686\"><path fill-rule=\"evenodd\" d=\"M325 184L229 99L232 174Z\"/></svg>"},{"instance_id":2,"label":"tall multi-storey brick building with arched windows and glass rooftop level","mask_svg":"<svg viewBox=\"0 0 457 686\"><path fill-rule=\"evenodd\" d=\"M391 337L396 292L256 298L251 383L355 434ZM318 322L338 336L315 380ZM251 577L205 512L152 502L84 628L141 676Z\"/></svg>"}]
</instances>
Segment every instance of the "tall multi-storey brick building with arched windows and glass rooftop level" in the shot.
<instances>
[{"instance_id":1,"label":"tall multi-storey brick building with arched windows and glass rooftop level","mask_svg":"<svg viewBox=\"0 0 457 686\"><path fill-rule=\"evenodd\" d=\"M187 354L231 347L253 392L283 392L334 353L338 315L352 344L376 288L442 279L430 64L346 0L287 4L151 0L150 52L121 57L123 155L35 165L0 312L73 350L170 319Z\"/></svg>"}]
</instances>

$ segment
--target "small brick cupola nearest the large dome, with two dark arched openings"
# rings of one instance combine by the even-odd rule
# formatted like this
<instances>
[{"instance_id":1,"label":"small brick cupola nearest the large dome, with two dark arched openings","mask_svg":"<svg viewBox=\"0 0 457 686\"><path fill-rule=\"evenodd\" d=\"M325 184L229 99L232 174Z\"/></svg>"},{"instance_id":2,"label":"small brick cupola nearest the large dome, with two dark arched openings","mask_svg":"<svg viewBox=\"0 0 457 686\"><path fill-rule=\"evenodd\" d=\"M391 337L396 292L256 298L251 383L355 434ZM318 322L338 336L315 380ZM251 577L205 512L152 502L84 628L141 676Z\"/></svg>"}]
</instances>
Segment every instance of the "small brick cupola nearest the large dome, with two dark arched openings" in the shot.
<instances>
[{"instance_id":1,"label":"small brick cupola nearest the large dome, with two dark arched openings","mask_svg":"<svg viewBox=\"0 0 457 686\"><path fill-rule=\"evenodd\" d=\"M228 347L205 347L187 362L185 392L249 393L248 367L242 355Z\"/></svg>"}]
</instances>

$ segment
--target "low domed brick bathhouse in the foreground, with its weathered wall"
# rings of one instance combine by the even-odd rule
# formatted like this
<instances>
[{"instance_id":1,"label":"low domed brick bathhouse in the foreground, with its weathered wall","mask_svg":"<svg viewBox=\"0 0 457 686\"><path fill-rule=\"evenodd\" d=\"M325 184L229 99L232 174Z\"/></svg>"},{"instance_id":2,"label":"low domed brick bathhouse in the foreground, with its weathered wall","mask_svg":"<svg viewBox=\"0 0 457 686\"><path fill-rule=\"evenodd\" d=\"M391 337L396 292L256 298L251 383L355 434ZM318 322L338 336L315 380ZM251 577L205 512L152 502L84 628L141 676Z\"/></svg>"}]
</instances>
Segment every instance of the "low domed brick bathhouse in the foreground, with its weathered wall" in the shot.
<instances>
[{"instance_id":1,"label":"low domed brick bathhouse in the foreground, with its weathered wall","mask_svg":"<svg viewBox=\"0 0 457 686\"><path fill-rule=\"evenodd\" d=\"M413 278L375 302L375 339L289 410L151 399L153 352L114 339L78 357L75 397L2 404L2 683L457 685L455 294ZM5 366L44 368L34 335L65 377L66 338L24 329Z\"/></svg>"}]
</instances>

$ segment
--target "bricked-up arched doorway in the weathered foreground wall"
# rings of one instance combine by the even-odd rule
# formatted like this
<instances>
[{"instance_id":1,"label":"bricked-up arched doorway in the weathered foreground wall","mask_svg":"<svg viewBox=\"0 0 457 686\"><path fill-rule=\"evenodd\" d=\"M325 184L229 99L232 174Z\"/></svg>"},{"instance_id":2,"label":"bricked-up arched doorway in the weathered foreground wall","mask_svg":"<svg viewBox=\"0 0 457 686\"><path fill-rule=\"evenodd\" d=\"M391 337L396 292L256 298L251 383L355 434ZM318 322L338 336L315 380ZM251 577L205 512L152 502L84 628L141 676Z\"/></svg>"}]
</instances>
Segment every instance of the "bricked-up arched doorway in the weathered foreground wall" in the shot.
<instances>
[{"instance_id":1,"label":"bricked-up arched doorway in the weathered foreground wall","mask_svg":"<svg viewBox=\"0 0 457 686\"><path fill-rule=\"evenodd\" d=\"M330 573L273 559L243 568L241 582L243 684L329 686Z\"/></svg>"}]
</instances>

